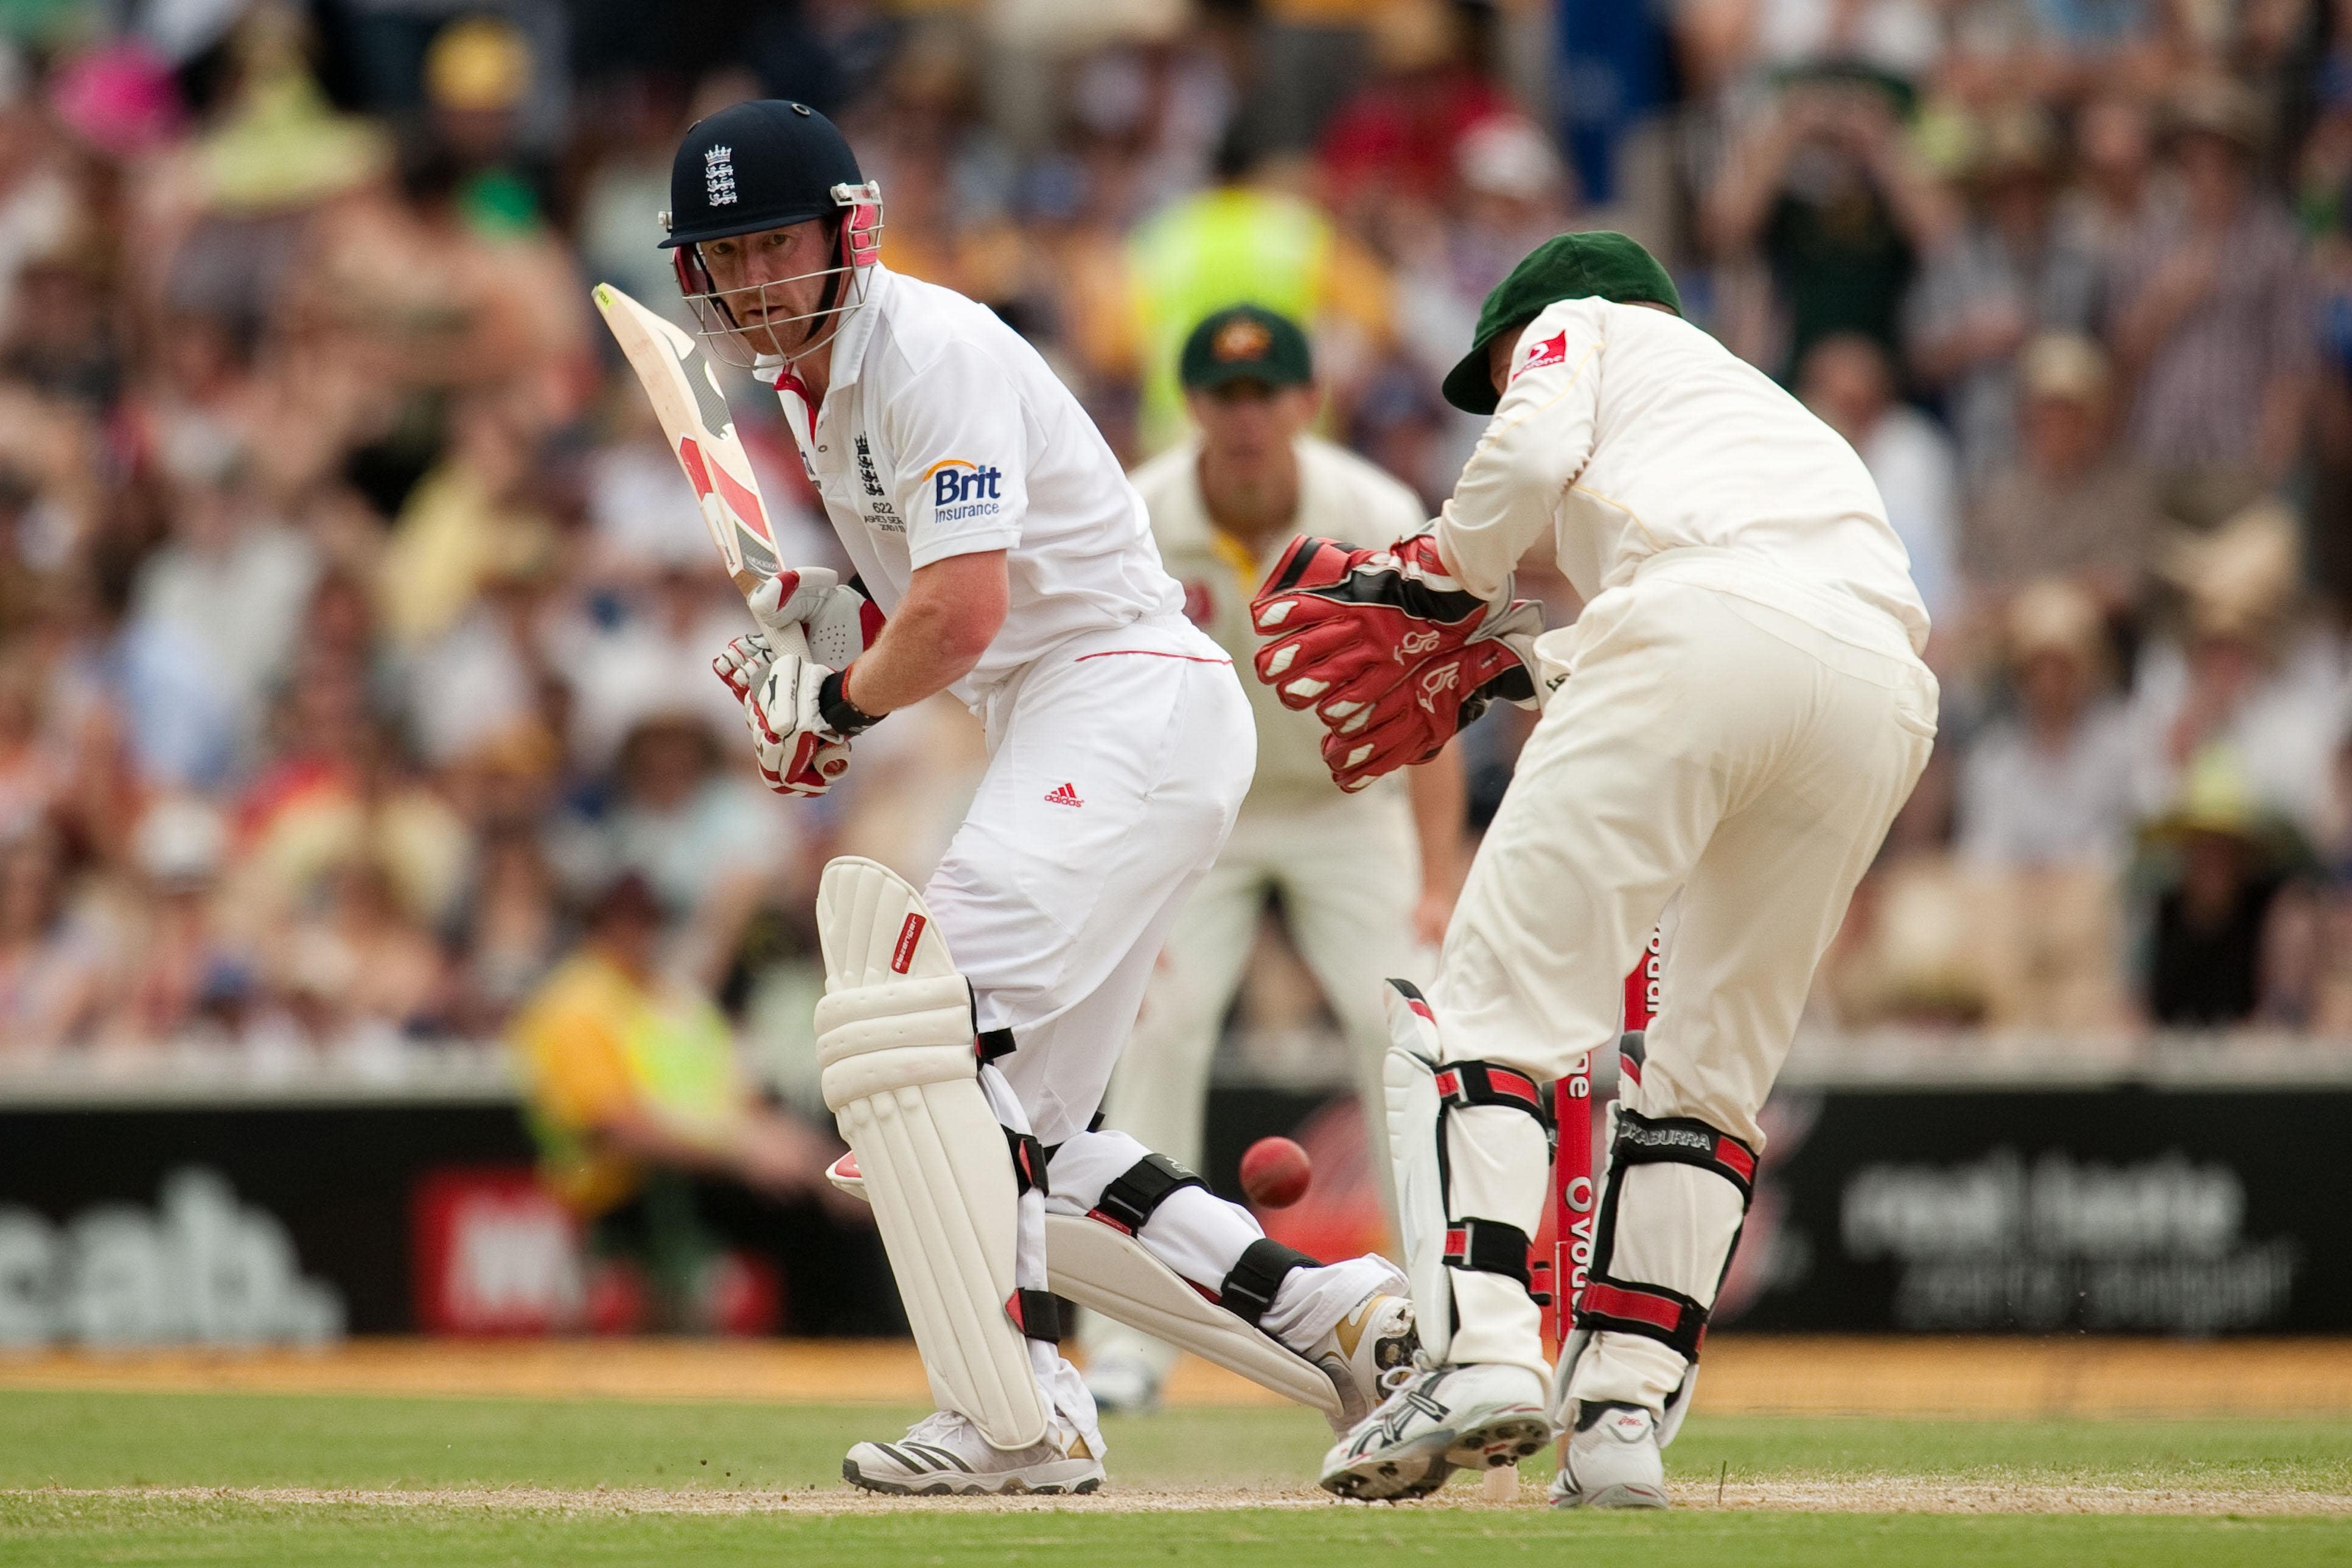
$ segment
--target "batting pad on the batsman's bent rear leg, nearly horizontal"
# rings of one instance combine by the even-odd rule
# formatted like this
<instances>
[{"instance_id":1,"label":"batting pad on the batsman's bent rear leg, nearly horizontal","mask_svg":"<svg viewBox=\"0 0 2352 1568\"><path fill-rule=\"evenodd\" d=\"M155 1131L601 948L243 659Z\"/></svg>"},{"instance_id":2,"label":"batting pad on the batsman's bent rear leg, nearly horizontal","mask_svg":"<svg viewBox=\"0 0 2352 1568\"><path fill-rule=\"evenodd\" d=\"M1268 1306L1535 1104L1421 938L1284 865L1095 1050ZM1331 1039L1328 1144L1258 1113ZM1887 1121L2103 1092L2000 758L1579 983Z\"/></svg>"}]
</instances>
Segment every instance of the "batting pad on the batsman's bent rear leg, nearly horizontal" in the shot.
<instances>
[{"instance_id":1,"label":"batting pad on the batsman's bent rear leg, nearly horizontal","mask_svg":"<svg viewBox=\"0 0 2352 1568\"><path fill-rule=\"evenodd\" d=\"M1230 1312L1211 1307L1134 1237L1101 1220L1049 1213L1044 1267L1056 1295L1190 1349L1284 1399L1312 1406L1324 1420L1341 1418L1338 1389L1322 1368Z\"/></svg>"}]
</instances>

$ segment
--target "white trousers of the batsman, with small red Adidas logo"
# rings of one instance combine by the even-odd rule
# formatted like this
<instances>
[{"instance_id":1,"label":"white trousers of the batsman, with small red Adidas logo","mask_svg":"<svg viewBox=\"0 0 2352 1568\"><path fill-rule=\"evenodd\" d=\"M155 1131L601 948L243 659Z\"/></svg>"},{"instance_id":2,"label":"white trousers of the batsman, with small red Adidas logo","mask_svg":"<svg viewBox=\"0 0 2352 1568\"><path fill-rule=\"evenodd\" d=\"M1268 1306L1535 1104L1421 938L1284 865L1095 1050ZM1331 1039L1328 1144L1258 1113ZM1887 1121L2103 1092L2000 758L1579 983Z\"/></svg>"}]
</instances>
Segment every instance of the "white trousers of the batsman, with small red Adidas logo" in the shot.
<instances>
[{"instance_id":1,"label":"white trousers of the batsman, with small red Adidas logo","mask_svg":"<svg viewBox=\"0 0 2352 1568\"><path fill-rule=\"evenodd\" d=\"M981 1072L997 1119L1061 1145L1054 1204L1084 1213L1143 1154L1087 1124L1160 943L1249 790L1256 729L1225 654L1169 618L1061 644L990 701L985 731L988 769L924 903L971 980L978 1027L1014 1034L1011 1056ZM1044 1288L1044 1208L1021 1197L1023 1288ZM1261 1234L1249 1211L1190 1187L1138 1239L1214 1291ZM1294 1272L1263 1326L1312 1342L1369 1288L1348 1293L1343 1274L1362 1269ZM1040 1340L1030 1361L1101 1441L1070 1363Z\"/></svg>"}]
</instances>

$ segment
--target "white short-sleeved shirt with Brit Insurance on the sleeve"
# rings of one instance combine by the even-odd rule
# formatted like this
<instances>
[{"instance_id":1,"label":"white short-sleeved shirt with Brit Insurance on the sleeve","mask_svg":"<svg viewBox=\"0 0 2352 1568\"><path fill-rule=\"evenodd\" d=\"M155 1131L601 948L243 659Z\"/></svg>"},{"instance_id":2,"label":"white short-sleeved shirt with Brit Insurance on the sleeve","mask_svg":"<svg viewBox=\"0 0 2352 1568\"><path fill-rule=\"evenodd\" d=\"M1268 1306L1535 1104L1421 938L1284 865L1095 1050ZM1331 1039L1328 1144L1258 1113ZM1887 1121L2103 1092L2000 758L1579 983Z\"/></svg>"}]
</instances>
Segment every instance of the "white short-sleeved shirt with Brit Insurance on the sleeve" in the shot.
<instances>
[{"instance_id":1,"label":"white short-sleeved shirt with Brit Insurance on the sleeve","mask_svg":"<svg viewBox=\"0 0 2352 1568\"><path fill-rule=\"evenodd\" d=\"M797 378L760 374L882 614L917 567L1007 552L1004 625L953 686L967 708L1070 637L1181 611L1120 458L993 310L875 263L830 364L814 411Z\"/></svg>"}]
</instances>

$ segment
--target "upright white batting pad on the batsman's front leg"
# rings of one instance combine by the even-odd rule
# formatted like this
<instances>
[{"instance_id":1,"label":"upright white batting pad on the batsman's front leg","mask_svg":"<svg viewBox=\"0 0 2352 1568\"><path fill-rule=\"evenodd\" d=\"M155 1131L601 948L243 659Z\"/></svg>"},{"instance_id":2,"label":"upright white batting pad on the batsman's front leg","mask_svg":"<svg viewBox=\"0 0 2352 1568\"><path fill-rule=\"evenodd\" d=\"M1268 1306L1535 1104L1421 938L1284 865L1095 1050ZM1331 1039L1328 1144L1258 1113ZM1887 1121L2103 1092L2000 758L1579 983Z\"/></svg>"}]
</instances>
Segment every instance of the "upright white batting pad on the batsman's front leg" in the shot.
<instances>
[{"instance_id":1,"label":"upright white batting pad on the batsman's front leg","mask_svg":"<svg viewBox=\"0 0 2352 1568\"><path fill-rule=\"evenodd\" d=\"M1044 1439L1047 1406L1014 1298L1016 1199L981 1095L971 987L922 896L844 856L816 889L826 997L816 1063L856 1154L931 1394L997 1448Z\"/></svg>"}]
</instances>

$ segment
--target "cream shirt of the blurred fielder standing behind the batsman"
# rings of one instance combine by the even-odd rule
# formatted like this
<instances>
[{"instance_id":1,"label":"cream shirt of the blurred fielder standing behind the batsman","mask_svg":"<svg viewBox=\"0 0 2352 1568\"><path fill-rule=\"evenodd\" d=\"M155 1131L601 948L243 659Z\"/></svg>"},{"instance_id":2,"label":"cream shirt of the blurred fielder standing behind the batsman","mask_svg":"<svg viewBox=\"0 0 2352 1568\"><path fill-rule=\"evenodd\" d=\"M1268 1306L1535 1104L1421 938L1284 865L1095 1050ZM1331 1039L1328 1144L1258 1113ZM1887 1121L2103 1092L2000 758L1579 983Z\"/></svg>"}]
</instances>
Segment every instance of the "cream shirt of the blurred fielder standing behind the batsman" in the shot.
<instances>
[{"instance_id":1,"label":"cream shirt of the blurred fielder standing behind the batsman","mask_svg":"<svg viewBox=\"0 0 2352 1568\"><path fill-rule=\"evenodd\" d=\"M1279 543L1287 545L1291 534L1319 534L1350 545L1388 545L1425 522L1421 496L1345 447L1301 435L1294 451L1298 512L1289 531L1279 534ZM1225 649L1235 670L1249 670L1249 661L1258 654L1249 599L1275 562L1256 559L1249 545L1209 520L1209 505L1200 494L1200 437L1162 451L1129 477L1150 510L1160 559L1183 588L1183 614ZM1258 776L1249 785L1249 806L1322 806L1350 799L1331 783L1331 769L1322 759L1322 719L1312 712L1291 712L1261 679L1244 677L1242 689L1249 691L1249 708L1258 722ZM1402 780L1402 773L1395 778ZM1388 785L1390 780L1381 780L1369 792L1376 795Z\"/></svg>"}]
</instances>

